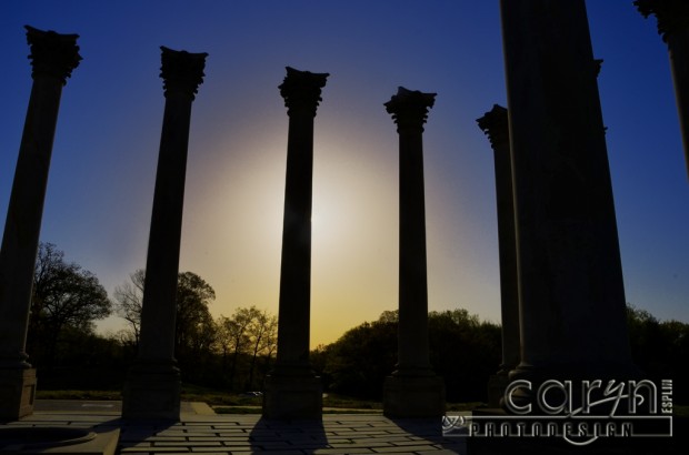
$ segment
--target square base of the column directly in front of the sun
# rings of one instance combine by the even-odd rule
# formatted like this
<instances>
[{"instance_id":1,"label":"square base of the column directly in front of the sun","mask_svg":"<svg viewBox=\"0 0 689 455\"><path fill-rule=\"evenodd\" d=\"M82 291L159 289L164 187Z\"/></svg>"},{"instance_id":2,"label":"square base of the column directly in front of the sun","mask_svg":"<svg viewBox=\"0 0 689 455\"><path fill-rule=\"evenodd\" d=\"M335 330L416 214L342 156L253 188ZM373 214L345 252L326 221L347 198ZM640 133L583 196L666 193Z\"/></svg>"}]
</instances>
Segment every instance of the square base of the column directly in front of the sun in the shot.
<instances>
[{"instance_id":1,"label":"square base of the column directly in front of the sun","mask_svg":"<svg viewBox=\"0 0 689 455\"><path fill-rule=\"evenodd\" d=\"M263 417L274 419L320 419L323 388L318 376L266 376Z\"/></svg>"}]
</instances>

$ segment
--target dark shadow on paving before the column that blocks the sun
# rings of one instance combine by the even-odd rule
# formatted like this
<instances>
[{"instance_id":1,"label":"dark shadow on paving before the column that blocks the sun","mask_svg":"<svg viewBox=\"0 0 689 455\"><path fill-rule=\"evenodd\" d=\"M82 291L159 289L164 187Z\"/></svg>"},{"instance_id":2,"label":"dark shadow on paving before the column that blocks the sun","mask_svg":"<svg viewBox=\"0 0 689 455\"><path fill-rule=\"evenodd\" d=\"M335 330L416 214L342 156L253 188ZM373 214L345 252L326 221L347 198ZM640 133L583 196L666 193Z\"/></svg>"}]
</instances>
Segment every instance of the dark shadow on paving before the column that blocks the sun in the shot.
<instances>
[{"instance_id":1,"label":"dark shadow on paving before the column that blocks the sun","mask_svg":"<svg viewBox=\"0 0 689 455\"><path fill-rule=\"evenodd\" d=\"M249 434L252 452L302 451L328 447L322 421L277 421L261 416Z\"/></svg>"}]
</instances>

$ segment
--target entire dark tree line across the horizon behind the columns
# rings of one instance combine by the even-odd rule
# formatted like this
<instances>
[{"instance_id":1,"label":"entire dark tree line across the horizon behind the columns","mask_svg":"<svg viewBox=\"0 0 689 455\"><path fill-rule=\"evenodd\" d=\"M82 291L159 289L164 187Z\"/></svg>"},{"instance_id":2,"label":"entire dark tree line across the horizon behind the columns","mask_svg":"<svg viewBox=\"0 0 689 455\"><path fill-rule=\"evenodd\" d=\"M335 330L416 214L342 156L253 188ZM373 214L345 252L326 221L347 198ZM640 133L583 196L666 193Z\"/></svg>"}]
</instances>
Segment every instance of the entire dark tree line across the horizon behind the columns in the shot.
<instances>
[{"instance_id":1,"label":"entire dark tree line across the horizon behind the columns","mask_svg":"<svg viewBox=\"0 0 689 455\"><path fill-rule=\"evenodd\" d=\"M41 243L36 263L27 352L43 390L121 390L140 340L146 272L116 286L112 299L97 276L68 262L54 244ZM192 272L178 276L176 357L182 381L224 391L260 391L274 362L278 318L256 306L213 318L212 286ZM100 335L96 321L117 314L127 328ZM629 305L630 346L650 378L689 383L689 324L659 321ZM311 352L326 391L381 400L385 377L397 362L398 312L347 331ZM429 313L431 364L445 378L449 402L486 402L487 384L501 362L500 325L465 309ZM689 403L676 387L675 402Z\"/></svg>"}]
</instances>

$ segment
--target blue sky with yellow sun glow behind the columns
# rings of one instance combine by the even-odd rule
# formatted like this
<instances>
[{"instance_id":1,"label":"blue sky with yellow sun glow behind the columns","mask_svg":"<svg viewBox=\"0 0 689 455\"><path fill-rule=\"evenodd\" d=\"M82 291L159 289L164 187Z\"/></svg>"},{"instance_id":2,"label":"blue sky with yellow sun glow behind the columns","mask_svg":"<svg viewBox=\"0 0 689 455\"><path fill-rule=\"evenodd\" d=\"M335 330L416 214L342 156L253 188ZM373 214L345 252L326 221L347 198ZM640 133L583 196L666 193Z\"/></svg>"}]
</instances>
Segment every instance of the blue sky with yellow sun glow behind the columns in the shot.
<instances>
[{"instance_id":1,"label":"blue sky with yellow sun glow behind the columns","mask_svg":"<svg viewBox=\"0 0 689 455\"><path fill-rule=\"evenodd\" d=\"M689 322L689 180L666 44L631 0L587 1L627 301ZM329 72L314 125L311 345L398 303L398 135L383 103L438 93L423 135L429 310L500 322L492 150L506 105L498 0L20 1L0 4L0 214L31 90L24 24L78 33L41 241L108 293L146 266L164 98L160 46L208 52L193 102L180 271L214 316L278 313L284 67ZM566 107L563 107L566 109ZM101 333L124 326L111 316Z\"/></svg>"}]
</instances>

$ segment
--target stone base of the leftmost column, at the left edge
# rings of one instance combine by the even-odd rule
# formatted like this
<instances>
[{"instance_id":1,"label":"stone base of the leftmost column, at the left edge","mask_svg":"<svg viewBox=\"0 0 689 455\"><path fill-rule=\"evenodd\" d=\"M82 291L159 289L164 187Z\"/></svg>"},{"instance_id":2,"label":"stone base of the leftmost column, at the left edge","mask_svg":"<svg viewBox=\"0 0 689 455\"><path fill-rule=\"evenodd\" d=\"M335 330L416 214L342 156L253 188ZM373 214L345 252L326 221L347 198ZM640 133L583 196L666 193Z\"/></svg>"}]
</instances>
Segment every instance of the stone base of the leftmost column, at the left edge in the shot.
<instances>
[{"instance_id":1,"label":"stone base of the leftmost column, at the left edge","mask_svg":"<svg viewBox=\"0 0 689 455\"><path fill-rule=\"evenodd\" d=\"M36 368L0 368L0 422L33 413Z\"/></svg>"}]
</instances>

